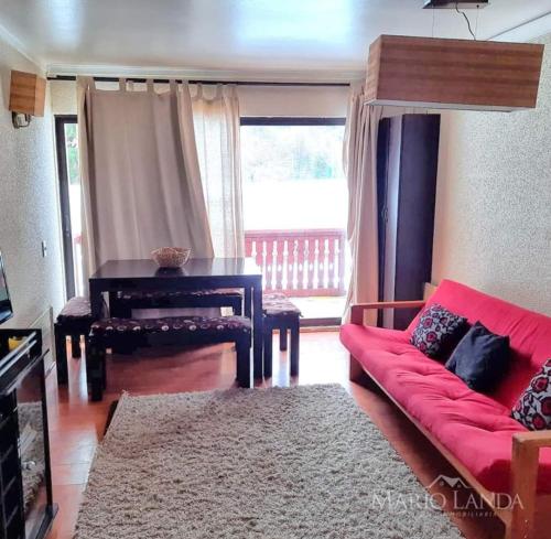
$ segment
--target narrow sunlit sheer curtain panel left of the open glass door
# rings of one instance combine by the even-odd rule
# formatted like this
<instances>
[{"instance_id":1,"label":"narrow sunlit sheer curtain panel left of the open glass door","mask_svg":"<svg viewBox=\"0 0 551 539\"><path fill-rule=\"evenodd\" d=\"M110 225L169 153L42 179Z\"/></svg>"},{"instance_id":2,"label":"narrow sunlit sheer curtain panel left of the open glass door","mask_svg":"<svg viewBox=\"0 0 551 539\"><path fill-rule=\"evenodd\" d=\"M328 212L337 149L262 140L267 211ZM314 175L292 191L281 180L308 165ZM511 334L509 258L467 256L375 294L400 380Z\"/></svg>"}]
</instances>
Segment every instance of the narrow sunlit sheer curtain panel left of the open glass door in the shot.
<instances>
[{"instance_id":1,"label":"narrow sunlit sheer curtain panel left of the open glass door","mask_svg":"<svg viewBox=\"0 0 551 539\"><path fill-rule=\"evenodd\" d=\"M236 86L199 84L192 106L214 252L218 257L242 257L245 233Z\"/></svg>"}]
</instances>

